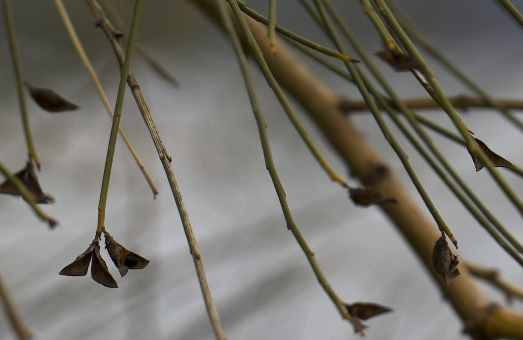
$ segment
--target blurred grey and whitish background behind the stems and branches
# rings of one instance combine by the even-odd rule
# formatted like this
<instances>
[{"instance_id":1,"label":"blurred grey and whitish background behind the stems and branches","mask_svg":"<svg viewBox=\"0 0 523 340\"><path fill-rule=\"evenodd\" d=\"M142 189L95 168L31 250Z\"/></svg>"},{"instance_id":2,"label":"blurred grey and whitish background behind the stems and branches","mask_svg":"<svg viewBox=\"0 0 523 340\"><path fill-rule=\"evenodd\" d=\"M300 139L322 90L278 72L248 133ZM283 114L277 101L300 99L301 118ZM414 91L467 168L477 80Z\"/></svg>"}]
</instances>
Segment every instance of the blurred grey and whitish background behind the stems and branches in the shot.
<instances>
[{"instance_id":1,"label":"blurred grey and whitish background behind the stems and branches","mask_svg":"<svg viewBox=\"0 0 523 340\"><path fill-rule=\"evenodd\" d=\"M359 2L336 1L340 14L369 52L381 49ZM521 2L514 2L521 6ZM130 22L131 2L112 0ZM495 1L399 1L420 30L484 89L521 98L523 30ZM267 1L250 5L267 13ZM65 6L112 105L119 71L103 33L84 2ZM127 92L121 125L150 171L160 195L153 200L121 139L110 181L106 227L130 250L151 260L120 278L102 251L119 288L89 276L58 272L92 241L111 122L79 62L52 2L12 1L26 79L78 104L72 113L42 111L27 96L44 191L42 206L60 221L50 231L20 198L0 196L0 273L37 339L212 339L194 264L161 163ZM520 8L520 9L521 9ZM2 12L3 13L3 12ZM278 3L278 23L331 46L298 2ZM3 16L3 14L2 14ZM0 19L4 21L4 18ZM12 171L25 165L16 80L5 25L0 25L0 160ZM134 73L151 108L173 167L229 339L357 338L317 284L285 221L265 169L257 127L228 38L190 1L145 2L139 42L173 73L179 87L158 77L135 55ZM358 97L354 86L304 57L337 93ZM449 95L465 89L430 58ZM376 60L377 63L380 63ZM410 74L380 63L405 97L425 96ZM276 166L297 225L329 282L346 301L374 301L394 309L367 322L368 339L458 339L461 323L399 233L375 207L359 208L331 182L301 142L263 77L252 67ZM324 156L348 169L293 103ZM439 111L424 113L451 126ZM465 123L494 151L523 164L522 135L492 110L463 113ZM415 197L410 180L369 114L353 118L362 134L392 163ZM395 131L395 130L394 130ZM476 173L464 148L434 136L453 165L518 239L521 218L485 171ZM402 137L419 177L460 243L464 258L495 266L515 283L521 268L477 225ZM523 194L521 180L503 171ZM352 180L351 180L352 181ZM351 182L356 185L356 182ZM418 198L421 203L421 200ZM482 285L495 301L503 295ZM514 303L521 309L521 303ZM0 314L0 339L15 339Z\"/></svg>"}]
</instances>

